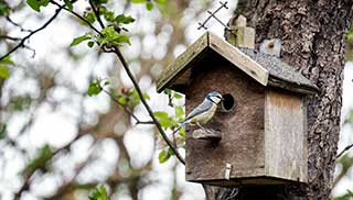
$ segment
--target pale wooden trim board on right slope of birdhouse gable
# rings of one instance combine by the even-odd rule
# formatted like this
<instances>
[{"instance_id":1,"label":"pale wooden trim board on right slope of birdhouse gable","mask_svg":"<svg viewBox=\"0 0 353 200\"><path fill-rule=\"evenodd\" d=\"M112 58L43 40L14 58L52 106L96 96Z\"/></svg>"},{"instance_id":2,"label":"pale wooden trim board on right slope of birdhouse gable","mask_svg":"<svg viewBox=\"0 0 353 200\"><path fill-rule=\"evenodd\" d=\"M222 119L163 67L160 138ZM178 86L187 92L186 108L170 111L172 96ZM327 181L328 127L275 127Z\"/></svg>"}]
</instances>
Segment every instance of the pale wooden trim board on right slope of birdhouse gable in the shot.
<instances>
[{"instance_id":1,"label":"pale wooden trim board on right slope of birdhouse gable","mask_svg":"<svg viewBox=\"0 0 353 200\"><path fill-rule=\"evenodd\" d=\"M218 36L210 33L210 46L212 49L221 54L237 68L242 69L248 76L260 82L263 86L267 86L268 70L263 66L254 62L250 57L244 54L242 51L232 46L229 43L220 38Z\"/></svg>"}]
</instances>

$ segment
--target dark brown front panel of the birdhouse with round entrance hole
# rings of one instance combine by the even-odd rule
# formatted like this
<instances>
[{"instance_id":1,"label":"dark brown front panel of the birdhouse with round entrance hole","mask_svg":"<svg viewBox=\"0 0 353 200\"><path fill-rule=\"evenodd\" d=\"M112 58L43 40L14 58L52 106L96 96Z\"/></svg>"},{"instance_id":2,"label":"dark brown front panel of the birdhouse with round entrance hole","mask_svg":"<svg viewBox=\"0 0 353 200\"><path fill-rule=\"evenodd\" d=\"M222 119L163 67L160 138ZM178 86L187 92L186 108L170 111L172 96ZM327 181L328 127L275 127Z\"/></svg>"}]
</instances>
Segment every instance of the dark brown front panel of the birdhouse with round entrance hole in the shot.
<instances>
[{"instance_id":1,"label":"dark brown front panel of the birdhouse with round entrance hole","mask_svg":"<svg viewBox=\"0 0 353 200\"><path fill-rule=\"evenodd\" d=\"M196 140L192 134L199 127L186 127L186 179L226 180L227 165L232 165L231 178L264 175L265 87L225 59L213 56L192 69L192 81L185 90L186 113L210 91L233 98L234 103L225 102L226 108L218 108L213 120L204 125L218 131L221 141Z\"/></svg>"}]
</instances>

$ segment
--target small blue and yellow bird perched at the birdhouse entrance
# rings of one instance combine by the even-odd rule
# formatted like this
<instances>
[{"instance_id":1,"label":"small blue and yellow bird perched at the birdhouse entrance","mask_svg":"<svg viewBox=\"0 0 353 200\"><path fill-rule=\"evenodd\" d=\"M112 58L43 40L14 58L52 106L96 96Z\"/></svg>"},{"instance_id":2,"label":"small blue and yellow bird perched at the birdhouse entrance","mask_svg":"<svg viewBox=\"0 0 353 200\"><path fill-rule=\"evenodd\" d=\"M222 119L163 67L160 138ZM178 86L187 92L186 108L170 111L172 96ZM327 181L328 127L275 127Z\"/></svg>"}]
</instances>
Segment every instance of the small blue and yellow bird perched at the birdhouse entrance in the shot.
<instances>
[{"instance_id":1,"label":"small blue and yellow bird perched at the birdhouse entrance","mask_svg":"<svg viewBox=\"0 0 353 200\"><path fill-rule=\"evenodd\" d=\"M176 133L182 126L185 124L192 124L197 125L202 130L204 127L202 124L206 124L214 115L214 113L217 110L217 105L221 101L223 101L223 97L217 91L211 91L206 95L202 103L200 103L197 107L195 107L184 119L183 122L181 122L178 126L178 129L174 131ZM205 131L205 130L204 130Z\"/></svg>"}]
</instances>

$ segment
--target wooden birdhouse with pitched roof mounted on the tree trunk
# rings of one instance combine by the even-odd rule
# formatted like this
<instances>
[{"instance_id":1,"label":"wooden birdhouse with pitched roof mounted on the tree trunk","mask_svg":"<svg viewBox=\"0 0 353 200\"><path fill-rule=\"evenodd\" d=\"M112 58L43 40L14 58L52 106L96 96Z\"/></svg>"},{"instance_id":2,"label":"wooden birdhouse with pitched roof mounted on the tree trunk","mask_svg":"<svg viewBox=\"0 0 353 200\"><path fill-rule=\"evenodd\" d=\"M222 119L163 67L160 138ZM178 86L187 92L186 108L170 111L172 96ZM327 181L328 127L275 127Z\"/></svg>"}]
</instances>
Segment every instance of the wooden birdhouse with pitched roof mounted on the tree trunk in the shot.
<instances>
[{"instance_id":1,"label":"wooden birdhouse with pitched roof mounted on the tree trunk","mask_svg":"<svg viewBox=\"0 0 353 200\"><path fill-rule=\"evenodd\" d=\"M186 114L210 91L224 98L205 124L215 134L186 126L186 180L217 186L308 181L304 98L318 88L277 56L207 32L165 68L157 88L184 93Z\"/></svg>"}]
</instances>

